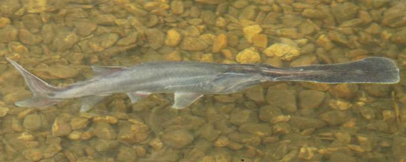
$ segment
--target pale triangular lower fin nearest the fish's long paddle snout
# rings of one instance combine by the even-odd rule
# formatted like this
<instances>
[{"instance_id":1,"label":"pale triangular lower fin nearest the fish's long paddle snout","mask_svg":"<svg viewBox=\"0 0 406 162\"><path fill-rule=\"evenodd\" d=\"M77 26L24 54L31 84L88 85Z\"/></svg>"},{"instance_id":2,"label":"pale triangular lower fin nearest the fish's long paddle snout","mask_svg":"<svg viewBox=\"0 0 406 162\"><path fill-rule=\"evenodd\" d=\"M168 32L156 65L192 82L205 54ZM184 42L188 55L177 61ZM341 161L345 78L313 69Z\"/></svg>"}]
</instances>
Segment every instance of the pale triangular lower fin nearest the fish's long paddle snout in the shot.
<instances>
[{"instance_id":1,"label":"pale triangular lower fin nearest the fish's long paddle snout","mask_svg":"<svg viewBox=\"0 0 406 162\"><path fill-rule=\"evenodd\" d=\"M175 93L175 103L172 105L172 108L185 108L199 99L201 96L203 95L195 93Z\"/></svg>"}]
</instances>

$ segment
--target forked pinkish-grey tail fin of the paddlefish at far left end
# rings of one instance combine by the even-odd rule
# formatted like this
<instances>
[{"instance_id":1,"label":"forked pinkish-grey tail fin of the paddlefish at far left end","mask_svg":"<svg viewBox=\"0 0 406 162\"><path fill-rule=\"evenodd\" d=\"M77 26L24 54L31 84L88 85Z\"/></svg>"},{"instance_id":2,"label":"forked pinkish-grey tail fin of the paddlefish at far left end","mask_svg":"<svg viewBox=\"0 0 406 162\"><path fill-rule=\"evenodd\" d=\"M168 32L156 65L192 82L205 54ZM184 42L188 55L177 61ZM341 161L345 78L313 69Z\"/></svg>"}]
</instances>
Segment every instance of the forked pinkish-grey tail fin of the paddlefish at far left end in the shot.
<instances>
[{"instance_id":1,"label":"forked pinkish-grey tail fin of the paddlefish at far left end","mask_svg":"<svg viewBox=\"0 0 406 162\"><path fill-rule=\"evenodd\" d=\"M61 101L60 99L51 99L50 96L55 95L56 92L60 91L60 88L49 85L44 80L38 78L37 76L29 73L15 61L6 58L24 77L25 83L27 84L29 90L32 92L32 98L23 101L18 101L15 103L16 106L20 107L43 107L48 105L56 104Z\"/></svg>"}]
</instances>

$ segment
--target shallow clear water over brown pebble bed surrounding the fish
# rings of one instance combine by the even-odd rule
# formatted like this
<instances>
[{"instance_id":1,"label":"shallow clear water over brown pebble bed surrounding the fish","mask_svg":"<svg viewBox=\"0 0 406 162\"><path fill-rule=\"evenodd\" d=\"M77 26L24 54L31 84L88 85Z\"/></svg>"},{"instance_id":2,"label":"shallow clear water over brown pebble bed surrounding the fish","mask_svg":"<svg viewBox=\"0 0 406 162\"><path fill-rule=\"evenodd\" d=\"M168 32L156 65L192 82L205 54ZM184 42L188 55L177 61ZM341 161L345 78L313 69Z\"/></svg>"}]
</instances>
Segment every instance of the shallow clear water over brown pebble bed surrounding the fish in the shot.
<instances>
[{"instance_id":1,"label":"shallow clear water over brown pebble bed surrounding the fish","mask_svg":"<svg viewBox=\"0 0 406 162\"><path fill-rule=\"evenodd\" d=\"M171 109L125 94L44 108L11 58L55 86L90 65L201 61L293 67L367 56L405 64L402 1L0 1L0 161L404 161L398 84L269 82Z\"/></svg>"}]
</instances>

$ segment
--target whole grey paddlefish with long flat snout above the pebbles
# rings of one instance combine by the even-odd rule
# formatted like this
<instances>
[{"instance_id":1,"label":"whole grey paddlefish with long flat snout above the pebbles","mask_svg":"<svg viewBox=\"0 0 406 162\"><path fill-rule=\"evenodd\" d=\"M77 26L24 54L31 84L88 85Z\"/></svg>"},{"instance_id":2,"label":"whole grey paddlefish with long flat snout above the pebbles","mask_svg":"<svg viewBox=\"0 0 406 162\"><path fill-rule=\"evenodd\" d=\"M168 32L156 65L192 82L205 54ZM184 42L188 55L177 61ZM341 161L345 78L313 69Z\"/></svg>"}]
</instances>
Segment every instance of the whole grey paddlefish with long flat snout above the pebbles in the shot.
<instances>
[{"instance_id":1,"label":"whole grey paddlefish with long flat snout above the pebbles","mask_svg":"<svg viewBox=\"0 0 406 162\"><path fill-rule=\"evenodd\" d=\"M54 87L7 59L24 77L33 96L21 107L43 107L82 97L81 112L114 93L126 93L131 103L151 93L175 93L172 108L181 109L204 94L228 94L270 81L315 83L399 82L399 69L386 58L368 57L342 64L277 68L270 65L202 62L151 62L132 67L92 66L95 77L66 87Z\"/></svg>"}]
</instances>

